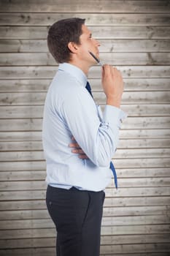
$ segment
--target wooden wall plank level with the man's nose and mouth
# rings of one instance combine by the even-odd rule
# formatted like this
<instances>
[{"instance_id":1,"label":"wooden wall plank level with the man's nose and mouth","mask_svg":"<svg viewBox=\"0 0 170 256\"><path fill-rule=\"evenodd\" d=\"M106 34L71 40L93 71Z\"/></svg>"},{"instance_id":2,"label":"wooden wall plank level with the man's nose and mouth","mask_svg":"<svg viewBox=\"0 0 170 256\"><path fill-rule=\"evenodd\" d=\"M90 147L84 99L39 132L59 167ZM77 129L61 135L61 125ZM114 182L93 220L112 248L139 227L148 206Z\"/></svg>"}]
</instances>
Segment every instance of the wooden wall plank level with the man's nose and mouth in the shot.
<instances>
[{"instance_id":1,"label":"wooden wall plank level with the man's nose and mouth","mask_svg":"<svg viewBox=\"0 0 170 256\"><path fill-rule=\"evenodd\" d=\"M101 52L110 53L125 52L127 49L128 53L169 52L169 39L100 39L100 45ZM0 39L0 53L3 52L47 53L47 39Z\"/></svg>"}]
</instances>

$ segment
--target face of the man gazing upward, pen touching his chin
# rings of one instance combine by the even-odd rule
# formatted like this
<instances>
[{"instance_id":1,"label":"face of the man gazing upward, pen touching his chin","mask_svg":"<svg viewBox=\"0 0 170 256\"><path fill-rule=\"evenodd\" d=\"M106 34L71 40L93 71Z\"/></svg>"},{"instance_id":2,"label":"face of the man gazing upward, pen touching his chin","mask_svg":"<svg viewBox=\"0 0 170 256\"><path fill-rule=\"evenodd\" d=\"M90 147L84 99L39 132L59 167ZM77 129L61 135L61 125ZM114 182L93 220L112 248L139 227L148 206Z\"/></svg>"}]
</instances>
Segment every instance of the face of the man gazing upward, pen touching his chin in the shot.
<instances>
[{"instance_id":1,"label":"face of the man gazing upward, pen touching his chin","mask_svg":"<svg viewBox=\"0 0 170 256\"><path fill-rule=\"evenodd\" d=\"M83 24L80 45L78 45L79 59L86 61L90 65L96 64L96 60L90 56L89 51L99 59L98 46L100 46L99 42L92 37L91 31Z\"/></svg>"}]
</instances>

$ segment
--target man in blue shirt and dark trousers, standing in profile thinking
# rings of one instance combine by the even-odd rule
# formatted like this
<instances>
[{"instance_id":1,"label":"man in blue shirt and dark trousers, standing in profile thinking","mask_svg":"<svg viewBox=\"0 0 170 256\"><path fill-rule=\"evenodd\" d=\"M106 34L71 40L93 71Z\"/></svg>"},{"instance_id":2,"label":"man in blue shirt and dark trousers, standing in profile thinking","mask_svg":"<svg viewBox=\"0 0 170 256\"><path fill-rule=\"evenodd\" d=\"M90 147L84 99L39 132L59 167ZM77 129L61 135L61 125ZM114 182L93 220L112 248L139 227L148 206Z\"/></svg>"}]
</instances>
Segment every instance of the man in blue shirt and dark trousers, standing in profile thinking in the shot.
<instances>
[{"instance_id":1,"label":"man in blue shirt and dark trousers, standing in profile thinking","mask_svg":"<svg viewBox=\"0 0 170 256\"><path fill-rule=\"evenodd\" d=\"M104 189L112 178L110 161L124 115L123 79L115 67L102 67L107 98L102 115L87 83L88 70L96 64L89 51L98 59L99 42L85 20L54 23L47 44L59 63L45 100L42 133L57 256L98 256Z\"/></svg>"}]
</instances>

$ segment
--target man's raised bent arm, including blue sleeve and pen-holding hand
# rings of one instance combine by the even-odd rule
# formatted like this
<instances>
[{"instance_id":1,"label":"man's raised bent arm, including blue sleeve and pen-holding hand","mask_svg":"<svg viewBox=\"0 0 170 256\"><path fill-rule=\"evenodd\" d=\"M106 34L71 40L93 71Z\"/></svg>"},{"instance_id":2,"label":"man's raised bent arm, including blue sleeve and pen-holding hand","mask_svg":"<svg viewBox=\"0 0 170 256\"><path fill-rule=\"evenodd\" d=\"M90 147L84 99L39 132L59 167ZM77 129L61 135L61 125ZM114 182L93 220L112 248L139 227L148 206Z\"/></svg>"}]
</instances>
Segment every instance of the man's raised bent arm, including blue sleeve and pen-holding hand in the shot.
<instances>
[{"instance_id":1,"label":"man's raised bent arm, including blue sleeve and pen-holding hand","mask_svg":"<svg viewBox=\"0 0 170 256\"><path fill-rule=\"evenodd\" d=\"M123 80L117 69L113 70L109 65L104 65L103 69L102 84L107 95L103 120L99 120L96 105L88 91L79 86L77 91L70 92L69 104L63 102L63 116L81 150L95 165L106 167L118 143L123 111L117 107L123 93Z\"/></svg>"}]
</instances>

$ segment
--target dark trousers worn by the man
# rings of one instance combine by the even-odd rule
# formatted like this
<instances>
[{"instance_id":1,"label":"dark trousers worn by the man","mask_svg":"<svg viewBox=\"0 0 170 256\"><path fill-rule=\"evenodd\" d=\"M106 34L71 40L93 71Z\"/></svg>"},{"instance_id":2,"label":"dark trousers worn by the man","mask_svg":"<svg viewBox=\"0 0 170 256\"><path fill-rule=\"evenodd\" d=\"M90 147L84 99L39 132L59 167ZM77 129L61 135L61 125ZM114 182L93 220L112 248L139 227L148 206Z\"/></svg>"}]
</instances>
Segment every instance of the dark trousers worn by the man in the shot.
<instances>
[{"instance_id":1,"label":"dark trousers worn by the man","mask_svg":"<svg viewBox=\"0 0 170 256\"><path fill-rule=\"evenodd\" d=\"M47 209L57 230L57 256L99 256L104 192L47 187Z\"/></svg>"}]
</instances>

